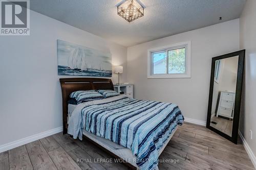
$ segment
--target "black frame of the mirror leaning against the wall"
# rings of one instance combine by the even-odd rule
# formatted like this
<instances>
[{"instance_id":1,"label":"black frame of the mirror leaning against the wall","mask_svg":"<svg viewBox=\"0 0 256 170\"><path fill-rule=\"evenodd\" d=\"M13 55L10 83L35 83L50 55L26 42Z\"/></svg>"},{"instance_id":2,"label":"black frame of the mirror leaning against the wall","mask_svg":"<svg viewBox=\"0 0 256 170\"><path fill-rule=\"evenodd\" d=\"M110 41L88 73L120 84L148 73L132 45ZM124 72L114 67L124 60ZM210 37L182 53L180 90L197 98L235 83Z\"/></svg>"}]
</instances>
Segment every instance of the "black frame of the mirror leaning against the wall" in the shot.
<instances>
[{"instance_id":1,"label":"black frame of the mirror leaning against the wall","mask_svg":"<svg viewBox=\"0 0 256 170\"><path fill-rule=\"evenodd\" d=\"M236 86L236 98L234 103L234 117L232 125L232 135L229 136L213 127L210 126L211 118L211 105L212 105L212 94L214 91L214 76L215 76L215 61L221 60L229 57L239 56L238 59L238 75L237 75L237 86ZM239 130L239 117L240 117L240 107L241 107L241 94L242 94L242 85L243 85L243 74L244 74L244 62L245 62L245 50L238 52L233 52L218 57L214 57L211 60L211 75L210 75L210 91L209 91L209 103L208 103L208 113L207 113L207 122L206 128L216 132L222 137L230 140L231 142L237 144L238 141L238 130Z\"/></svg>"}]
</instances>

